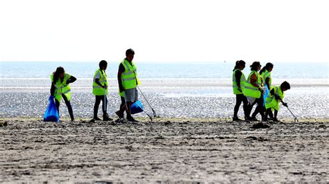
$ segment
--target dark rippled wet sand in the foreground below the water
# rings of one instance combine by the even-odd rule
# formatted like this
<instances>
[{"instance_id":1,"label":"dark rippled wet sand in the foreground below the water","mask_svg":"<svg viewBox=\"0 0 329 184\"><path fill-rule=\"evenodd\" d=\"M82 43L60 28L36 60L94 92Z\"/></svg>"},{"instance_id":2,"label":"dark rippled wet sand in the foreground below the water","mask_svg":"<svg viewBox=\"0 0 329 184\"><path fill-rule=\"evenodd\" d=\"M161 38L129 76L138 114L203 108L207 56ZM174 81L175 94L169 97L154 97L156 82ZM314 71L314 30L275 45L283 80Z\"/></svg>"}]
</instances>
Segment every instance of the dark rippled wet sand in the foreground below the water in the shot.
<instances>
[{"instance_id":1,"label":"dark rippled wet sand in the foreground below the water","mask_svg":"<svg viewBox=\"0 0 329 184\"><path fill-rule=\"evenodd\" d=\"M0 183L329 182L328 119L1 118Z\"/></svg>"}]
</instances>

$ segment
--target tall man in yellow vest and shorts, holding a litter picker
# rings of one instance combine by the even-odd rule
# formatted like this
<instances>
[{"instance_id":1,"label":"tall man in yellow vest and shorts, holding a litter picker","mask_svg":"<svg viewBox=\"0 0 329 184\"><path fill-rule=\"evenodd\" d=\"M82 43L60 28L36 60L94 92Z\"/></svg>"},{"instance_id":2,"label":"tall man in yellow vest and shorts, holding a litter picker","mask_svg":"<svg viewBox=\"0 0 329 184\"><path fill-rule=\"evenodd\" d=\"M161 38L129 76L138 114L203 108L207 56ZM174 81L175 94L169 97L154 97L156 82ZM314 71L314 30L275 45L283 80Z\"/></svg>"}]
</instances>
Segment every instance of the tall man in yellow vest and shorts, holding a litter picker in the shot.
<instances>
[{"instance_id":1,"label":"tall man in yellow vest and shorts, holding a litter picker","mask_svg":"<svg viewBox=\"0 0 329 184\"><path fill-rule=\"evenodd\" d=\"M135 66L134 59L135 51L131 48L126 50L126 58L119 65L118 83L119 95L121 96L121 105L117 116L122 120L124 118L124 111L127 113L127 120L130 122L138 122L131 116L131 104L138 100L137 85L140 84L137 78L137 67Z\"/></svg>"}]
</instances>

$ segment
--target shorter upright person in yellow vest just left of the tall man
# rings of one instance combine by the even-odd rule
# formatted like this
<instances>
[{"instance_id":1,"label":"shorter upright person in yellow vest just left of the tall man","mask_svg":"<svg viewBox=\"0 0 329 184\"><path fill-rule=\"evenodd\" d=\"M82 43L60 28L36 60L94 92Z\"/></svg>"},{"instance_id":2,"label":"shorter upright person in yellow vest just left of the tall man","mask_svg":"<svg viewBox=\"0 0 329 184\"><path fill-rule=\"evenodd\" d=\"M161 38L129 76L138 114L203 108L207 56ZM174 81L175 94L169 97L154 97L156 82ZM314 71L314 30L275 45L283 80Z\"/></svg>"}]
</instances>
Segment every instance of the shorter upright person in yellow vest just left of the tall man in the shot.
<instances>
[{"instance_id":1,"label":"shorter upright person in yellow vest just left of the tall man","mask_svg":"<svg viewBox=\"0 0 329 184\"><path fill-rule=\"evenodd\" d=\"M108 98L108 77L106 76L106 68L108 68L108 62L106 60L101 60L99 62L99 69L94 74L94 80L92 82L92 94L95 95L95 104L94 104L94 120L101 120L97 117L99 111L99 104L103 101L102 110L103 110L103 120L110 121L111 118L108 117L107 106ZM105 102L104 102L105 100Z\"/></svg>"}]
</instances>

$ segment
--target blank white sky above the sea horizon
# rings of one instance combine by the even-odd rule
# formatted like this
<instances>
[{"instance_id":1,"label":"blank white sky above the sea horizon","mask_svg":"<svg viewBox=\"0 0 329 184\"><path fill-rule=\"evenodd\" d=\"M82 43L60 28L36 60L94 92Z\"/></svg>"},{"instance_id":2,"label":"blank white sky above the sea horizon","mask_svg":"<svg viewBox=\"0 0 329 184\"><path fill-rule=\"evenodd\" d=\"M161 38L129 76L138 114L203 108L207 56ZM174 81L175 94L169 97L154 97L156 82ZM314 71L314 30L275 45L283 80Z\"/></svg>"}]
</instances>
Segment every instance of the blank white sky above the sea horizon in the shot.
<instances>
[{"instance_id":1,"label":"blank white sky above the sea horizon","mask_svg":"<svg viewBox=\"0 0 329 184\"><path fill-rule=\"evenodd\" d=\"M0 61L329 62L329 1L0 1Z\"/></svg>"}]
</instances>

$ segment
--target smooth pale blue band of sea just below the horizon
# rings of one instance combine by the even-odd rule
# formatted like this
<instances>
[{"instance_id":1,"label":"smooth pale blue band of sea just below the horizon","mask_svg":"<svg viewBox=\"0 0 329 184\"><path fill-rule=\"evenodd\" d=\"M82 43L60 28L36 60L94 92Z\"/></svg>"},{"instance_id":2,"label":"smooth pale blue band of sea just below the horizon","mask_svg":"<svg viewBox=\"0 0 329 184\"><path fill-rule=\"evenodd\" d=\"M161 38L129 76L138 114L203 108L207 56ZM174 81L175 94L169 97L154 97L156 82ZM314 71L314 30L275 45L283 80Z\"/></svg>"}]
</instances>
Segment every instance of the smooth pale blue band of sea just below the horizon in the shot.
<instances>
[{"instance_id":1,"label":"smooth pale blue band of sea just below the horizon","mask_svg":"<svg viewBox=\"0 0 329 184\"><path fill-rule=\"evenodd\" d=\"M230 78L234 63L140 63L135 62L141 78ZM246 64L244 73L250 72ZM261 63L263 66L266 63ZM278 79L328 79L328 63L273 63L273 78ZM44 78L63 66L75 77L93 77L98 62L1 62L0 77ZM119 62L110 62L108 77L115 78Z\"/></svg>"}]
</instances>

